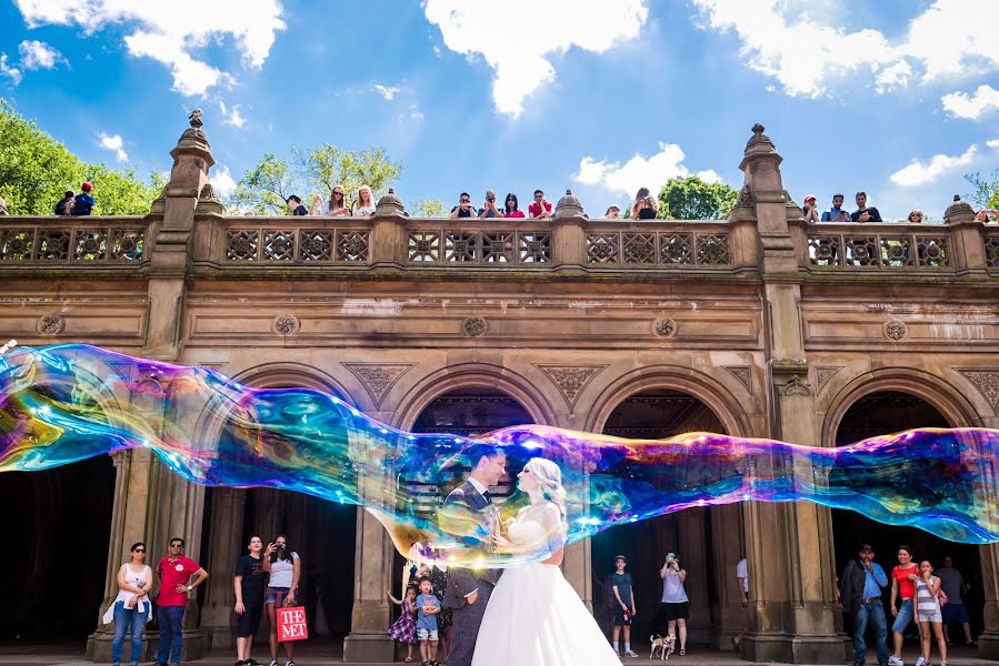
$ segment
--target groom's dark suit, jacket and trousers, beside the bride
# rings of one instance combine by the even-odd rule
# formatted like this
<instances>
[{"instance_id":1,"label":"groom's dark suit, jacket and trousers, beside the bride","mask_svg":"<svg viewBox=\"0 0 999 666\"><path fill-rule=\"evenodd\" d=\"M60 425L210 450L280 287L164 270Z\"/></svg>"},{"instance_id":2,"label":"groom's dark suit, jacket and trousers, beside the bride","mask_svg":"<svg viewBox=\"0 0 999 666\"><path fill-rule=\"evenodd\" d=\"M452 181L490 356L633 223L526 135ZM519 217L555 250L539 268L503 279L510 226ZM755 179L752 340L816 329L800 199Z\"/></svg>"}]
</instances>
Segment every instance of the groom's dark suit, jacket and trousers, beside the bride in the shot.
<instances>
[{"instance_id":1,"label":"groom's dark suit, jacket and trousers, beside the bride","mask_svg":"<svg viewBox=\"0 0 999 666\"><path fill-rule=\"evenodd\" d=\"M499 529L499 511L492 507L492 500L481 495L471 482L464 482L458 486L448 498L444 500L446 513L464 514L467 519L473 519L488 524L487 535ZM447 527L444 527L447 532ZM464 537L464 534L457 535ZM492 544L479 542L468 537L461 541L474 545L483 552L492 549ZM476 652L476 639L479 636L479 626L482 624L482 615L486 613L486 604L492 588L499 581L500 569L466 569L451 567L448 569L448 588L444 591L443 607L451 608L453 623L451 625L451 648L448 653L448 666L471 666L472 655ZM469 604L466 596L479 591L474 604Z\"/></svg>"}]
</instances>

